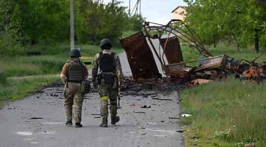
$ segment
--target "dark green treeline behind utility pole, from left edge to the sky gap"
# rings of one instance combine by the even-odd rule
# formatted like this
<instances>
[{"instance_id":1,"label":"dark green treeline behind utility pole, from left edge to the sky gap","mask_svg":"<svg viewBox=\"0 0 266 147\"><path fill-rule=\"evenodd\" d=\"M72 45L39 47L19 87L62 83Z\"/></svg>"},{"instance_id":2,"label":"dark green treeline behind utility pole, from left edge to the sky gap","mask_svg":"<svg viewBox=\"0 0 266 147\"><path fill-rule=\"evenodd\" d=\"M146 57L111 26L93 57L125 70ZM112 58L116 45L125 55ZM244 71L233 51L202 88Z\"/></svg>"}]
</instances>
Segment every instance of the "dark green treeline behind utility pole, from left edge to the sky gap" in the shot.
<instances>
[{"instance_id":1,"label":"dark green treeline behind utility pole, from left edge to the sky gap","mask_svg":"<svg viewBox=\"0 0 266 147\"><path fill-rule=\"evenodd\" d=\"M0 56L23 52L25 45L69 40L70 0L0 0ZM129 17L119 0L74 0L75 40L117 41L123 31L141 30L144 18Z\"/></svg>"}]
</instances>

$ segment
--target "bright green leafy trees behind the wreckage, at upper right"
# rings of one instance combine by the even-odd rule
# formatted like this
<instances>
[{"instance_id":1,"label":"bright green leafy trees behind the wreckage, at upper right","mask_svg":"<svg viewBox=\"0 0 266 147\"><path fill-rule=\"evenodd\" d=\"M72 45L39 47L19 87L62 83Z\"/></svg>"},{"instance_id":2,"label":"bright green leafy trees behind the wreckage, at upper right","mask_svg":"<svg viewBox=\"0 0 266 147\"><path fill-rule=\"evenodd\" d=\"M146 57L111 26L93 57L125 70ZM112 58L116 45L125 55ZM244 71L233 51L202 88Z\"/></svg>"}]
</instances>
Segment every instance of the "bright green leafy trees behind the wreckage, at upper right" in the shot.
<instances>
[{"instance_id":1,"label":"bright green leafy trees behind the wreckage, at upper right","mask_svg":"<svg viewBox=\"0 0 266 147\"><path fill-rule=\"evenodd\" d=\"M187 23L206 45L228 41L238 51L255 44L266 48L266 0L184 0Z\"/></svg>"}]
</instances>

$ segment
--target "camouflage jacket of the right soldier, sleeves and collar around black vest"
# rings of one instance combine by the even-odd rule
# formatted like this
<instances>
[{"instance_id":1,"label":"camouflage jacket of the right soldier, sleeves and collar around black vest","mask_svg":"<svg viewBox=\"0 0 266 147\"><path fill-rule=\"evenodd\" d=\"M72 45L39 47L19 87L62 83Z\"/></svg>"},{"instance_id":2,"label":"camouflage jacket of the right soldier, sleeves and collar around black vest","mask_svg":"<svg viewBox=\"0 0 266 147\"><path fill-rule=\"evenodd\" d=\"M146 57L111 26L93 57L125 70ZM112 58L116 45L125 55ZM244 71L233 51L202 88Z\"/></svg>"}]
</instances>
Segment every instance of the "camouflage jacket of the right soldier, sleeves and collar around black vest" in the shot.
<instances>
[{"instance_id":1,"label":"camouflage jacket of the right soldier, sleeves and collar around black vest","mask_svg":"<svg viewBox=\"0 0 266 147\"><path fill-rule=\"evenodd\" d=\"M102 53L111 54L111 51L110 50L102 50ZM98 76L97 73L98 73L98 69L99 69L99 62L100 62L100 53L95 55L94 61L93 61L93 68L92 68L92 81L93 82L96 81L96 78ZM114 74L117 77L120 77L120 79L122 80L124 75L122 72L120 58L117 54L114 55L114 63L113 64L115 67L115 70L113 72L103 72L103 73Z\"/></svg>"}]
</instances>

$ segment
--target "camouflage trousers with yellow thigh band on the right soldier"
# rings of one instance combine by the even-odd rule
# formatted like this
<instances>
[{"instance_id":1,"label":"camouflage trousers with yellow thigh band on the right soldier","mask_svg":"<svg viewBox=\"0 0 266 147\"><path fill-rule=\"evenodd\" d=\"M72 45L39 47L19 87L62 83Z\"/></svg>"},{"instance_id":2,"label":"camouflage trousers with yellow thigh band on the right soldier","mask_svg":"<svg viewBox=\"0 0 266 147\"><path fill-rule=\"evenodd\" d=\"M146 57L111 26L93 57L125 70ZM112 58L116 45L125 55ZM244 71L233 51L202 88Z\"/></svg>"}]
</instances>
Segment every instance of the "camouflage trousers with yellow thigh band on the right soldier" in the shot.
<instances>
[{"instance_id":1,"label":"camouflage trousers with yellow thigh band on the right soldier","mask_svg":"<svg viewBox=\"0 0 266 147\"><path fill-rule=\"evenodd\" d=\"M117 115L117 96L118 91L110 88L110 86L100 85L100 116L101 118L108 118L108 99L110 99L110 115L115 117Z\"/></svg>"}]
</instances>

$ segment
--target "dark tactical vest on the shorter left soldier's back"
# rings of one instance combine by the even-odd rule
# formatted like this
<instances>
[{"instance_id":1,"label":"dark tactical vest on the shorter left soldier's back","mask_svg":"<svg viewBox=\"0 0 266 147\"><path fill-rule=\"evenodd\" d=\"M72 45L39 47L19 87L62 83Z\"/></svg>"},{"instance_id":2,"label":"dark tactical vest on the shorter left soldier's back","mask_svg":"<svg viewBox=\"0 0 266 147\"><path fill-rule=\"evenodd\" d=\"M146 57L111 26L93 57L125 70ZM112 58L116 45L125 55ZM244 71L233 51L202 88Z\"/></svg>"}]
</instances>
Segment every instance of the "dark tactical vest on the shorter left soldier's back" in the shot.
<instances>
[{"instance_id":1,"label":"dark tactical vest on the shorter left soldier's back","mask_svg":"<svg viewBox=\"0 0 266 147\"><path fill-rule=\"evenodd\" d=\"M72 83L81 83L83 80L83 70L84 67L81 64L80 61L75 61L71 63L70 61L68 63L68 82Z\"/></svg>"}]
</instances>

